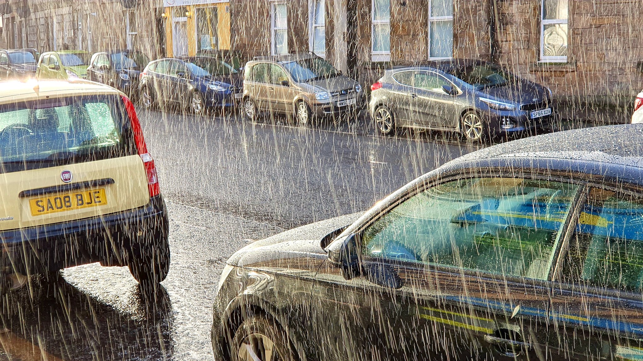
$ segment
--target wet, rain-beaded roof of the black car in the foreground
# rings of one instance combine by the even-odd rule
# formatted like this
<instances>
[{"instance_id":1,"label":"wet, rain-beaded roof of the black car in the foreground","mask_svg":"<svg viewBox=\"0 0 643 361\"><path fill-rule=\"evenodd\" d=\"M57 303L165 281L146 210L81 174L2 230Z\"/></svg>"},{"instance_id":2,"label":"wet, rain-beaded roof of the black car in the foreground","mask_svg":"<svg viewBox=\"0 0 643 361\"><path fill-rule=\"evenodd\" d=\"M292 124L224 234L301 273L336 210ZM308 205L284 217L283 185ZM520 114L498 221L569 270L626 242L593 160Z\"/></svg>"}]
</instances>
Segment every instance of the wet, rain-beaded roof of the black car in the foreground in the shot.
<instances>
[{"instance_id":1,"label":"wet, rain-beaded roof of the black car in the foreground","mask_svg":"<svg viewBox=\"0 0 643 361\"><path fill-rule=\"evenodd\" d=\"M445 164L442 172L511 168L577 173L643 186L643 124L554 132L490 146Z\"/></svg>"}]
</instances>

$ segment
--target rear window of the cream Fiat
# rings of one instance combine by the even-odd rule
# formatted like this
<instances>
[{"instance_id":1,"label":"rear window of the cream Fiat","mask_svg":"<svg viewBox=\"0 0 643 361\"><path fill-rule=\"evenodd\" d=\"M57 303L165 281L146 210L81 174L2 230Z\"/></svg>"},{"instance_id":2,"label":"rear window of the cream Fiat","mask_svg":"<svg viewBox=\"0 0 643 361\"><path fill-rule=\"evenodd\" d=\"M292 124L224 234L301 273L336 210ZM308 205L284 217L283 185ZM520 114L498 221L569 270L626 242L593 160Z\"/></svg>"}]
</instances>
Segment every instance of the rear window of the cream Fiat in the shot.
<instances>
[{"instance_id":1,"label":"rear window of the cream Fiat","mask_svg":"<svg viewBox=\"0 0 643 361\"><path fill-rule=\"evenodd\" d=\"M0 172L131 155L118 96L28 101L0 107Z\"/></svg>"}]
</instances>

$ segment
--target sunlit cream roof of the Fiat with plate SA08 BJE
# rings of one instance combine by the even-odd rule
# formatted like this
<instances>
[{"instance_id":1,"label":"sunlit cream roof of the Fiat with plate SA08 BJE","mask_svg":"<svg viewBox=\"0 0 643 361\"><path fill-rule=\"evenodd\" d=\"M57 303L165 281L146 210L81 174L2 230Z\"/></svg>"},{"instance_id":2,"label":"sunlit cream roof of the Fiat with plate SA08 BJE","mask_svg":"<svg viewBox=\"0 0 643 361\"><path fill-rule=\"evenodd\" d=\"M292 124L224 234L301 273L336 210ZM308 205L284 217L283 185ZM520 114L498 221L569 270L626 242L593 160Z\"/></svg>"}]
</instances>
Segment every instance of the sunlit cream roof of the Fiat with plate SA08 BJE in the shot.
<instances>
[{"instance_id":1,"label":"sunlit cream roof of the Fiat with plate SA08 BJE","mask_svg":"<svg viewBox=\"0 0 643 361\"><path fill-rule=\"evenodd\" d=\"M17 101L39 100L50 97L82 96L96 94L122 95L113 87L87 80L28 80L2 82L0 104Z\"/></svg>"}]
</instances>

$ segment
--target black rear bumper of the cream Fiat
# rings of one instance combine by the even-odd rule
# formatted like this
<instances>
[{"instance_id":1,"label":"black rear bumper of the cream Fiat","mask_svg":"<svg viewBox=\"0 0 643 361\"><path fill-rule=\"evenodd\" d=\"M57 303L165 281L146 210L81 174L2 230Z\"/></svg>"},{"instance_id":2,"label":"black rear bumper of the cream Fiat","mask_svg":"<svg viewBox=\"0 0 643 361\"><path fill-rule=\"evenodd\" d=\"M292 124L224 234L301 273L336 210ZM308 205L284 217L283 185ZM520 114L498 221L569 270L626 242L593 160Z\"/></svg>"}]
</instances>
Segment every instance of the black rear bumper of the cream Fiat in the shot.
<instances>
[{"instance_id":1,"label":"black rear bumper of the cream Fiat","mask_svg":"<svg viewBox=\"0 0 643 361\"><path fill-rule=\"evenodd\" d=\"M125 265L122 251L140 242L141 231L168 224L160 195L136 209L109 215L0 231L0 270L33 274L101 261ZM114 260L114 256L120 258Z\"/></svg>"}]
</instances>

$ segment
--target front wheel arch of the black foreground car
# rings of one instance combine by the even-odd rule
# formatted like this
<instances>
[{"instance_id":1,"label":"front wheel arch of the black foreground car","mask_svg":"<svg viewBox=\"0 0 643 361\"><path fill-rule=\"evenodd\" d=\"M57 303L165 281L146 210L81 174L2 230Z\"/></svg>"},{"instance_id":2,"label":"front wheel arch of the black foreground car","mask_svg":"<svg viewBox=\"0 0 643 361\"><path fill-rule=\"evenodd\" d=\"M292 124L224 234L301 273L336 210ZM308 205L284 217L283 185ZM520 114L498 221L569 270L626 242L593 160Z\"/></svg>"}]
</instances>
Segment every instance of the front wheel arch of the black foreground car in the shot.
<instances>
[{"instance_id":1,"label":"front wheel arch of the black foreground car","mask_svg":"<svg viewBox=\"0 0 643 361\"><path fill-rule=\"evenodd\" d=\"M298 333L292 328L284 327L284 325L288 325L289 323L285 319L284 315L278 311L278 307L274 304L267 303L257 295L241 294L228 303L226 311L221 315L219 339L213 339L213 343L217 341L217 344L219 345L230 345L236 331L244 321L244 314L262 315L274 321L280 328L286 331L289 342L291 342L290 346L294 351L296 351L298 359L300 361L307 361L309 359L305 354L305 351L303 351L305 348L303 347L303 343L300 341L303 337L300 337L300 335L298 335ZM227 349L221 348L219 349L219 352L223 355L224 360L230 360L230 355L228 355Z\"/></svg>"}]
</instances>

